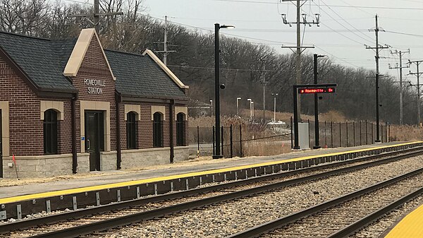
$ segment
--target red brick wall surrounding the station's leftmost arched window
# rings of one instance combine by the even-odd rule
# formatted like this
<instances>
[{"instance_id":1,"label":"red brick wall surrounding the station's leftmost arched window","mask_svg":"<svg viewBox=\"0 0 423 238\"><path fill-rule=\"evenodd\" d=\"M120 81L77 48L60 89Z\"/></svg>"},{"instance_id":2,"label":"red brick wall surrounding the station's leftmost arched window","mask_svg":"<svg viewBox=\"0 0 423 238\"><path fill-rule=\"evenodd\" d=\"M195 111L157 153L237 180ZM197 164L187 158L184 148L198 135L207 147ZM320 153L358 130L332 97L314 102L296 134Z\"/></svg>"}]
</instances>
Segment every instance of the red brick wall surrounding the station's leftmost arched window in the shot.
<instances>
[{"instance_id":1,"label":"red brick wall surrounding the station's leftmost arched window","mask_svg":"<svg viewBox=\"0 0 423 238\"><path fill-rule=\"evenodd\" d=\"M40 99L0 57L0 101L9 102L10 153L18 156L44 155ZM71 101L63 103L63 121L58 121L58 153L71 153Z\"/></svg>"}]
</instances>

